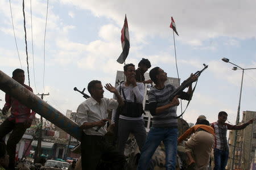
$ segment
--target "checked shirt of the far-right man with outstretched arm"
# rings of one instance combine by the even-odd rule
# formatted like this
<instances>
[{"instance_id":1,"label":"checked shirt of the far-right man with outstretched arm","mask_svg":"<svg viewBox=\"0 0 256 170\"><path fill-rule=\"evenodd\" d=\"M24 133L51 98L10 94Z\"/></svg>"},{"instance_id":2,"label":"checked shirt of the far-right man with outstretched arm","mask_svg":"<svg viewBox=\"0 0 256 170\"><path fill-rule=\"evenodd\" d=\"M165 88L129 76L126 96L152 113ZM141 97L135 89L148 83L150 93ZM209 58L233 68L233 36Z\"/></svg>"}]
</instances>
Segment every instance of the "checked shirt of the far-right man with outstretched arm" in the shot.
<instances>
[{"instance_id":1,"label":"checked shirt of the far-right man with outstretched arm","mask_svg":"<svg viewBox=\"0 0 256 170\"><path fill-rule=\"evenodd\" d=\"M212 123L212 128L215 132L215 144L214 148L217 148L219 150L228 150L228 140L226 139L226 131L228 130L241 130L244 129L247 125L247 123L242 125L230 125L230 124L224 124L223 126L219 126L218 122Z\"/></svg>"}]
</instances>

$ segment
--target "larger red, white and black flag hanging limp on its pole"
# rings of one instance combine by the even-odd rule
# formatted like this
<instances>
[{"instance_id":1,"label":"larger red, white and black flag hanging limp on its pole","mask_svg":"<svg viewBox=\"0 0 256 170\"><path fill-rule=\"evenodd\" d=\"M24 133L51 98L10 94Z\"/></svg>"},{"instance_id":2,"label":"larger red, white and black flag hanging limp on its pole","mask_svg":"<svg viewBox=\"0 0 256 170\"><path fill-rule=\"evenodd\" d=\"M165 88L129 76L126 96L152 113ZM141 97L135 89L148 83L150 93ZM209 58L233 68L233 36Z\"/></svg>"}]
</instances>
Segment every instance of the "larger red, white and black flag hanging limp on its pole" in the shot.
<instances>
[{"instance_id":1,"label":"larger red, white and black flag hanging limp on its pole","mask_svg":"<svg viewBox=\"0 0 256 170\"><path fill-rule=\"evenodd\" d=\"M121 43L122 43L123 52L117 59L117 62L119 62L119 63L125 62L125 59L127 58L128 54L129 54L129 49L130 49L130 38L129 38L129 30L128 30L128 23L127 23L126 15L125 15L125 23L123 24L121 33L122 33Z\"/></svg>"}]
</instances>

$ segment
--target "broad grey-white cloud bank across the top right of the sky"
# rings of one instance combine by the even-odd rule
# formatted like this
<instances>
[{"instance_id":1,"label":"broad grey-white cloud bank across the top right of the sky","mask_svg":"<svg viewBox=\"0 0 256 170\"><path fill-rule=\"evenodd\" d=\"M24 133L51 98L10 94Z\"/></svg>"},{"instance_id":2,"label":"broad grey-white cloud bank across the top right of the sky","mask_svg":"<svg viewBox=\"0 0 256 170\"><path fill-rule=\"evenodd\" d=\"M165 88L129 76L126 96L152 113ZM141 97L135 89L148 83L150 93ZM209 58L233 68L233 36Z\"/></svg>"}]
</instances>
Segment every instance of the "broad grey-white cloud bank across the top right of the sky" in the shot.
<instances>
[{"instance_id":1,"label":"broad grey-white cloud bank across the top right of the sky","mask_svg":"<svg viewBox=\"0 0 256 170\"><path fill-rule=\"evenodd\" d=\"M120 27L127 14L130 31L135 37L170 35L170 18L174 16L177 40L190 45L202 45L203 41L220 36L247 39L255 35L254 1L82 1L61 0L62 3L90 10L97 16L113 19ZM98 4L101 4L100 6ZM136 4L135 6L133 4ZM239 24L250 25L240 27Z\"/></svg>"}]
</instances>

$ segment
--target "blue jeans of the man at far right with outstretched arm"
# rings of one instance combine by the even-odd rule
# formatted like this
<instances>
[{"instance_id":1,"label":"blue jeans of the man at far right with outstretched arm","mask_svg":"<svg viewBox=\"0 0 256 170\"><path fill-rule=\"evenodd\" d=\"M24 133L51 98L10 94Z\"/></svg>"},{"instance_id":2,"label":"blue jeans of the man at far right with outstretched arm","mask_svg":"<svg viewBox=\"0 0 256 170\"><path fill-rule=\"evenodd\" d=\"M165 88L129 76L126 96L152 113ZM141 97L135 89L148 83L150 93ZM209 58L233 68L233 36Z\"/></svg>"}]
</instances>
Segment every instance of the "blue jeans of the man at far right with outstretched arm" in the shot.
<instances>
[{"instance_id":1,"label":"blue jeans of the man at far right with outstretched arm","mask_svg":"<svg viewBox=\"0 0 256 170\"><path fill-rule=\"evenodd\" d=\"M225 170L229 159L229 150L214 149L214 170Z\"/></svg>"}]
</instances>

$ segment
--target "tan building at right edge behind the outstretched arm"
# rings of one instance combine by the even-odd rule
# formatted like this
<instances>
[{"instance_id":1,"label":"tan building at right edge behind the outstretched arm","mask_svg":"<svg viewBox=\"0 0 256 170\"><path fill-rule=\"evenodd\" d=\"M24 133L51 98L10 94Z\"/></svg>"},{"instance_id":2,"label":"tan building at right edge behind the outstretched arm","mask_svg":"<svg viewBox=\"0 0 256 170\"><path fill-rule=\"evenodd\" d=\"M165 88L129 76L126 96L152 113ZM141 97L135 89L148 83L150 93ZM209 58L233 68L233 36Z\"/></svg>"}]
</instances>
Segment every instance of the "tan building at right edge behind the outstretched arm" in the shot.
<instances>
[{"instance_id":1,"label":"tan building at right edge behind the outstretched arm","mask_svg":"<svg viewBox=\"0 0 256 170\"><path fill-rule=\"evenodd\" d=\"M243 124L251 118L256 117L256 112L253 111L243 111L242 122ZM234 130L229 131L229 160L227 168L230 169L233 157L233 143L234 143ZM250 167L255 167L256 150L256 123L248 125L243 130L237 131L237 143L234 158L234 168L250 169Z\"/></svg>"}]
</instances>

